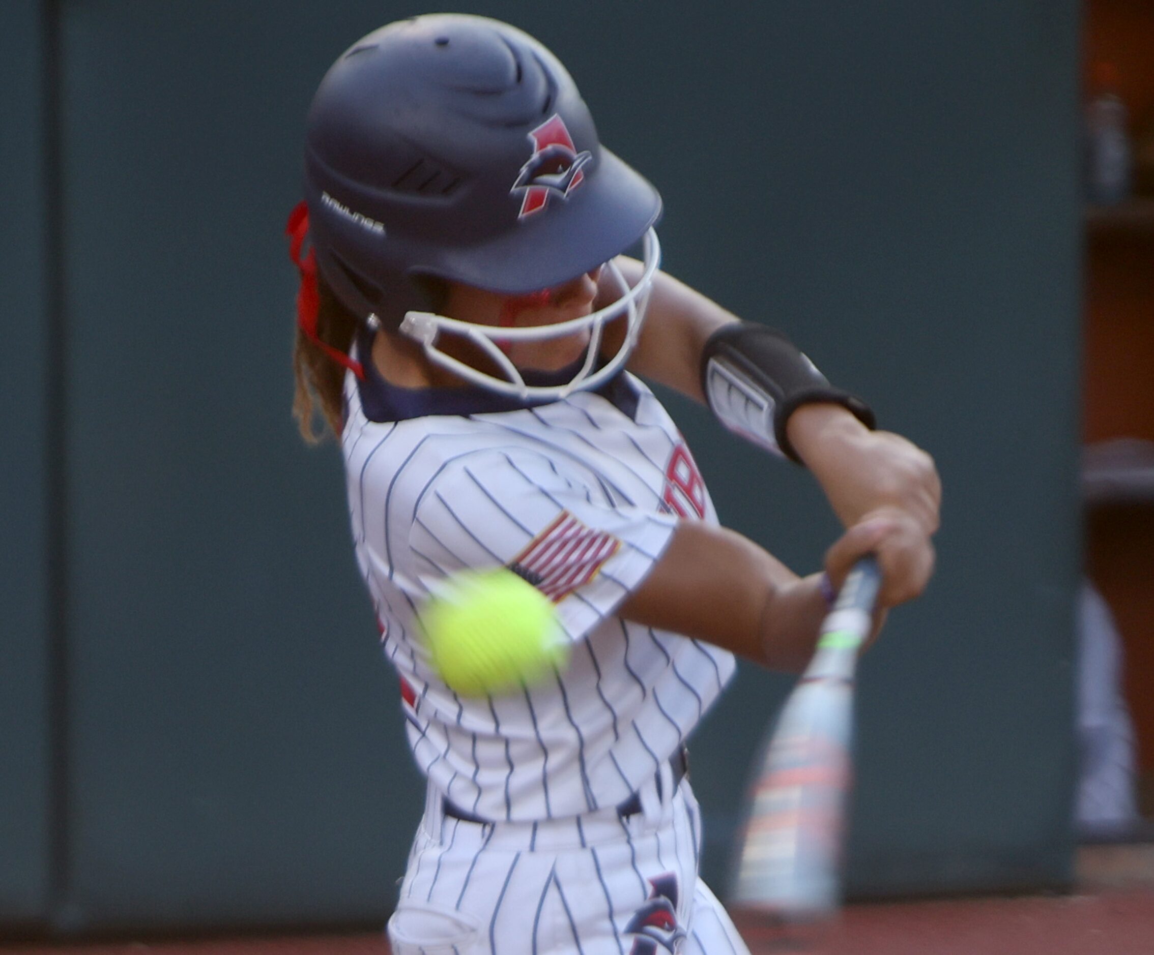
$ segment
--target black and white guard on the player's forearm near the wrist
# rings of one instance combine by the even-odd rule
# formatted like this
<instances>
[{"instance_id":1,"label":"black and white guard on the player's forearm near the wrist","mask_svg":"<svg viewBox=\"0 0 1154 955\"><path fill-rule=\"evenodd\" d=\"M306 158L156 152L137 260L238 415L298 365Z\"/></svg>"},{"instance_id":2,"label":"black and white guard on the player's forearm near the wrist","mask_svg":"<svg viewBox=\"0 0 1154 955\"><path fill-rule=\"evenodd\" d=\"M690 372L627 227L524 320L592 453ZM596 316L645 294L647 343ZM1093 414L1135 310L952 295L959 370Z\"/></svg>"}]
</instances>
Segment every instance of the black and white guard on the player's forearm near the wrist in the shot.
<instances>
[{"instance_id":1,"label":"black and white guard on the player's forearm near the wrist","mask_svg":"<svg viewBox=\"0 0 1154 955\"><path fill-rule=\"evenodd\" d=\"M841 405L867 428L875 427L864 401L831 385L781 332L752 322L735 322L710 336L702 349L702 391L726 428L797 464L786 422L802 405Z\"/></svg>"}]
</instances>

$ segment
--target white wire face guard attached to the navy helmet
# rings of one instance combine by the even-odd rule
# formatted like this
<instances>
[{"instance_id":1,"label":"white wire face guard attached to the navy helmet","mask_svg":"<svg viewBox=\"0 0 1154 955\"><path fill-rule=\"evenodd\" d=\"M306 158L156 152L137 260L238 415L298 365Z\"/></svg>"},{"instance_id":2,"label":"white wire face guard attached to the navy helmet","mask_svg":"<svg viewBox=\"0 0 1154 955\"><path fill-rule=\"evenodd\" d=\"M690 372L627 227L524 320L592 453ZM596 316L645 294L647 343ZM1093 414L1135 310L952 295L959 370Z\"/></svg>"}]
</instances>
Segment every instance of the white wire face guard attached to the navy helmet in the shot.
<instances>
[{"instance_id":1,"label":"white wire face guard attached to the navy helmet","mask_svg":"<svg viewBox=\"0 0 1154 955\"><path fill-rule=\"evenodd\" d=\"M436 315L430 311L410 311L405 315L404 322L400 323L400 332L419 341L426 358L434 364L439 364L459 375L465 381L489 391L495 391L499 394L557 400L575 391L591 391L605 384L605 382L617 374L634 351L634 346L637 345L642 322L645 321L645 307L649 304L653 275L661 262L661 247L658 245L657 233L652 228L645 233L644 257L645 270L637 285L632 288L629 287L615 262L610 261L606 263L605 268L609 270L609 275L617 283L621 296L613 304L580 318L559 322L555 325L508 329L495 325L478 325L473 322L460 322L456 318L448 318L444 315ZM625 319L625 336L621 348L606 366L594 371L605 324L619 318ZM541 388L525 384L525 379L522 377L517 366L509 360L509 356L501 351L501 346L497 344L546 341L584 331L589 332L589 344L585 346L585 361L582 363L580 370L563 385ZM507 377L499 378L495 375L488 375L447 355L437 347L437 340L442 333L457 334L478 345L496 362Z\"/></svg>"}]
</instances>

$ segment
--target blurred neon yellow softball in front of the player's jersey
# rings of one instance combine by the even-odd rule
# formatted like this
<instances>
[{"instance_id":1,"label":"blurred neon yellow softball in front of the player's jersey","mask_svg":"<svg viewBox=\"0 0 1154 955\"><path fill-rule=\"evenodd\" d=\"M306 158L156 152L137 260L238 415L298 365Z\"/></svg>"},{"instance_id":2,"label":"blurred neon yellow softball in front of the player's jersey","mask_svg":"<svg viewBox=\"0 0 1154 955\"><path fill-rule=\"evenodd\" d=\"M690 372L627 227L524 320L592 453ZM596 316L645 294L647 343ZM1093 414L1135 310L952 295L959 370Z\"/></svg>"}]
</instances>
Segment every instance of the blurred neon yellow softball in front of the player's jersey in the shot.
<instances>
[{"instance_id":1,"label":"blurred neon yellow softball in front of the player's jersey","mask_svg":"<svg viewBox=\"0 0 1154 955\"><path fill-rule=\"evenodd\" d=\"M455 574L420 621L434 668L464 695L530 686L569 660L553 603L504 567Z\"/></svg>"}]
</instances>

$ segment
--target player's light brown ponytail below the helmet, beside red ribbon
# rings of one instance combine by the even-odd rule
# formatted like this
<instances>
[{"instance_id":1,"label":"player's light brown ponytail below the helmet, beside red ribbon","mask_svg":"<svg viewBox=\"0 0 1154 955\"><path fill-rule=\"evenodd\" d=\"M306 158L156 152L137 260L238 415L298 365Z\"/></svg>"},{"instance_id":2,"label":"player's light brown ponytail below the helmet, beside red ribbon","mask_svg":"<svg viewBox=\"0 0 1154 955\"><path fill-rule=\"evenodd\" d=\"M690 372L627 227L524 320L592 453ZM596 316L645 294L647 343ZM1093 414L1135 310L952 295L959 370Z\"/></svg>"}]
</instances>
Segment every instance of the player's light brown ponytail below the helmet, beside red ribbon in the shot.
<instances>
[{"instance_id":1,"label":"player's light brown ponytail below the helmet, beside red ribbon","mask_svg":"<svg viewBox=\"0 0 1154 955\"><path fill-rule=\"evenodd\" d=\"M320 276L317 276L317 292L320 308L316 314L316 337L347 354L360 322L337 300ZM297 379L292 413L301 436L309 444L323 441L328 434L339 437L343 423L342 392L345 368L329 358L298 328L292 353L292 370ZM319 430L317 413L322 418Z\"/></svg>"}]
</instances>

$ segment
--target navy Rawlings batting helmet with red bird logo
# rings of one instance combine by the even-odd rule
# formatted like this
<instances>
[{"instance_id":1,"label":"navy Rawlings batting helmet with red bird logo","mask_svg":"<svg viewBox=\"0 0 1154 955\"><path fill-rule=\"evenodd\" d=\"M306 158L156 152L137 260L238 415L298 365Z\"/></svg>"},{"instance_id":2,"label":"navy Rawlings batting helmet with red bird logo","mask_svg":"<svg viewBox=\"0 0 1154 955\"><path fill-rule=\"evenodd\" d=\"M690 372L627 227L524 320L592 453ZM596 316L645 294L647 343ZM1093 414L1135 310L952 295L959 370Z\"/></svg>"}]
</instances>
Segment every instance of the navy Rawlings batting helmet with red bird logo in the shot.
<instances>
[{"instance_id":1,"label":"navy Rawlings batting helmet with red bird logo","mask_svg":"<svg viewBox=\"0 0 1154 955\"><path fill-rule=\"evenodd\" d=\"M644 236L645 287L622 283L621 307L590 316L629 315L639 326L659 255L657 190L600 145L557 59L486 17L392 23L337 60L308 115L305 201L334 294L426 351L464 324L428 314L428 279L519 295L592 271ZM502 334L512 331L527 330Z\"/></svg>"}]
</instances>

